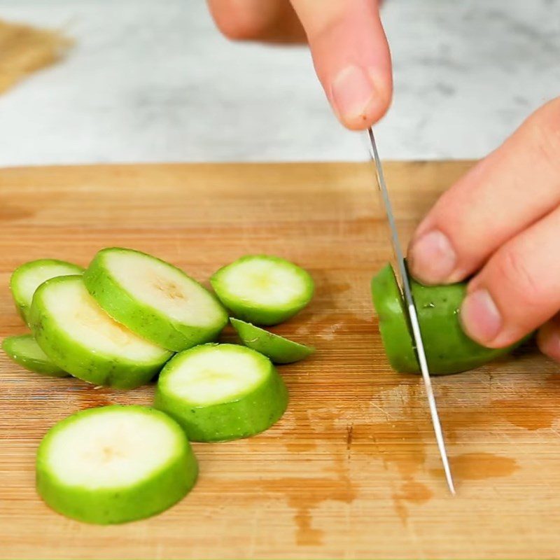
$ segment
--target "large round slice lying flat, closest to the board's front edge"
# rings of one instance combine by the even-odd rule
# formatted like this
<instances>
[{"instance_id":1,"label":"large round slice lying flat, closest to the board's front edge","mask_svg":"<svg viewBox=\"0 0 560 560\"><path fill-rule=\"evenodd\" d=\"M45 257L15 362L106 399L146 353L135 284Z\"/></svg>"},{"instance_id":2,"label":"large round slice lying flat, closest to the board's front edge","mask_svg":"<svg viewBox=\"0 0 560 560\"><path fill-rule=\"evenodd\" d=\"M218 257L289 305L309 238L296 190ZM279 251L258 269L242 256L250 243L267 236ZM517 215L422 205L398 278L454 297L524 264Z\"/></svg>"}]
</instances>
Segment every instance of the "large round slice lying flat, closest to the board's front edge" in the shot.
<instances>
[{"instance_id":1,"label":"large round slice lying flat, closest to the board's front edge","mask_svg":"<svg viewBox=\"0 0 560 560\"><path fill-rule=\"evenodd\" d=\"M186 496L197 461L176 421L153 408L83 410L53 426L37 451L39 496L79 521L113 524L162 512Z\"/></svg>"}]
</instances>

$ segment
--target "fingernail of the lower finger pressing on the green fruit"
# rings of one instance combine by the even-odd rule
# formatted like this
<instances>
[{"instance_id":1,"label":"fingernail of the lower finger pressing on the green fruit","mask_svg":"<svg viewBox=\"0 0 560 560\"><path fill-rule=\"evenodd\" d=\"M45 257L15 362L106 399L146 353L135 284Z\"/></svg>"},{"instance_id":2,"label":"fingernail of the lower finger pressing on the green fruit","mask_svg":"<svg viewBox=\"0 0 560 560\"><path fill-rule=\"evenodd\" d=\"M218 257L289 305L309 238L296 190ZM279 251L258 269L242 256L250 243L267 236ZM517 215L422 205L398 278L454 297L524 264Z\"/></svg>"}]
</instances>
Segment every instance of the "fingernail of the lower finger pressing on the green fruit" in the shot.
<instances>
[{"instance_id":1,"label":"fingernail of the lower finger pressing on the green fruit","mask_svg":"<svg viewBox=\"0 0 560 560\"><path fill-rule=\"evenodd\" d=\"M502 317L488 290L475 290L465 297L461 323L466 334L480 344L488 344L498 336Z\"/></svg>"}]
</instances>

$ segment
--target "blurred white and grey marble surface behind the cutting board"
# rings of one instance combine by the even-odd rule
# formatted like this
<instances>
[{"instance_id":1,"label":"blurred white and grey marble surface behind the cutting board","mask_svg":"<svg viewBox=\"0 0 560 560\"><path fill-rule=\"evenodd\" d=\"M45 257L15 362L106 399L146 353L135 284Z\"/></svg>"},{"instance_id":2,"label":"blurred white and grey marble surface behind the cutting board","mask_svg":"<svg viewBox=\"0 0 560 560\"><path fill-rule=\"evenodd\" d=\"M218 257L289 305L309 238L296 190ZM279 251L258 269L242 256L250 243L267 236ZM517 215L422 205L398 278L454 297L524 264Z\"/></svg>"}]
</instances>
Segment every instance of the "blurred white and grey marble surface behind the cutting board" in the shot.
<instances>
[{"instance_id":1,"label":"blurred white and grey marble surface behind the cutting board","mask_svg":"<svg viewBox=\"0 0 560 560\"><path fill-rule=\"evenodd\" d=\"M0 165L366 157L306 48L230 43L202 0L0 0L0 18L78 40L0 96ZM384 158L482 156L560 94L560 0L387 0L383 19Z\"/></svg>"}]
</instances>

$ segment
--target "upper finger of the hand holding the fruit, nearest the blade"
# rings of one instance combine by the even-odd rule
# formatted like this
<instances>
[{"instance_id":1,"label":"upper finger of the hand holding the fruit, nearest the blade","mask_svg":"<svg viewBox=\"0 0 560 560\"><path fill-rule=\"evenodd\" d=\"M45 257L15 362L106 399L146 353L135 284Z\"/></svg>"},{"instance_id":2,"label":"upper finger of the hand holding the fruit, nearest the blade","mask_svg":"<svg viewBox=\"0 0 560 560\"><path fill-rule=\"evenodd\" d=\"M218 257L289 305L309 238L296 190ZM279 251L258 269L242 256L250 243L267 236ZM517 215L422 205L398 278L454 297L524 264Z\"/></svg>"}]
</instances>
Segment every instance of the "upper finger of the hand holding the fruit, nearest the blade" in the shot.
<instances>
[{"instance_id":1,"label":"upper finger of the hand holding the fruit, nearest the blade","mask_svg":"<svg viewBox=\"0 0 560 560\"><path fill-rule=\"evenodd\" d=\"M463 280L559 202L560 97L440 197L412 239L411 272L424 283Z\"/></svg>"}]
</instances>

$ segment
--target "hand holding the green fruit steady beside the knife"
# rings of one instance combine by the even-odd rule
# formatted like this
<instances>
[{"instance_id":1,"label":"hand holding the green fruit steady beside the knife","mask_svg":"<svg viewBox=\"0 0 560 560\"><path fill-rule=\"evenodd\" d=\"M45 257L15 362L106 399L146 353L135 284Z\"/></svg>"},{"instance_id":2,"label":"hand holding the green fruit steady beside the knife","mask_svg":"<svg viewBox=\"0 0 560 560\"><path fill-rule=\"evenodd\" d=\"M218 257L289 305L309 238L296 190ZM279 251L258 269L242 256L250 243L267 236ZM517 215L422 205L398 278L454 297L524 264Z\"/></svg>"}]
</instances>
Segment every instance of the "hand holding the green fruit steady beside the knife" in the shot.
<instances>
[{"instance_id":1,"label":"hand holding the green fruit steady beside the knife","mask_svg":"<svg viewBox=\"0 0 560 560\"><path fill-rule=\"evenodd\" d=\"M409 266L428 284L475 274L465 332L499 348L540 327L541 351L560 361L559 240L560 97L440 197L412 238Z\"/></svg>"}]
</instances>

